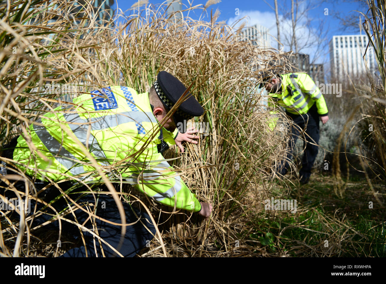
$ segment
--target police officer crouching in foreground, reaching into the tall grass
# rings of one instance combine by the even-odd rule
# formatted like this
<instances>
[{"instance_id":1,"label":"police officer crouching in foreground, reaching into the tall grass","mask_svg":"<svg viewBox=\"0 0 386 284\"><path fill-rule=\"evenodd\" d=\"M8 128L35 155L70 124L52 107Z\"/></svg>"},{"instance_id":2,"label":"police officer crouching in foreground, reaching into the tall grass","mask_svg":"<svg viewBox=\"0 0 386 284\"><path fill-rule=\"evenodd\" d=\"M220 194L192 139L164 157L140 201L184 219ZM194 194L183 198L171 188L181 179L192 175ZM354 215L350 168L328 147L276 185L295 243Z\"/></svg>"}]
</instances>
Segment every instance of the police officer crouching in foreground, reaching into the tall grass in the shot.
<instances>
[{"instance_id":1,"label":"police officer crouching in foreground, reaching into the tall grass","mask_svg":"<svg viewBox=\"0 0 386 284\"><path fill-rule=\"evenodd\" d=\"M39 125L30 126L29 137L20 135L17 139L13 139L10 145L4 147L2 161L5 161L5 158L17 161L15 168L37 180L44 180L46 185L51 180L55 182L63 179L78 182L100 180L99 175L95 174L95 167L92 166L95 160L107 169L105 173L110 180L123 179L157 202L177 210L196 212L208 218L212 211L211 204L199 202L162 156L168 145L176 144L183 151L181 142L197 143L193 140L198 138L193 135L196 133L195 129L188 129L186 133L178 131L182 132L182 128L177 129L177 126L186 123L187 120L203 114L203 108L189 92L189 98L180 105L174 115L167 120L164 119L185 90L186 87L177 78L166 71L161 71L149 93L138 94L130 87L111 86L94 90L91 94L82 94L73 99L73 104L59 106L53 112L40 116L37 120ZM162 128L159 122L162 123ZM31 143L33 147L30 147ZM85 150L88 155L85 155ZM120 167L119 174L108 170L111 165ZM14 173L10 166L2 168L2 174L6 172ZM23 184L24 182L17 185L21 192L24 192L21 188ZM65 184L61 182L59 186L64 187ZM68 188L71 186L72 183ZM51 201L58 195L55 187L51 187L51 193L52 191L56 194L49 193L44 198L39 195L39 198L46 202ZM10 190L4 192L4 188L0 189L0 194L8 194L7 197L12 195ZM78 204L95 204L90 206L91 210L94 208L94 214L121 223L117 205L110 194L95 194L98 200L93 194L76 193L68 196L73 200L79 198L76 201ZM63 200L54 204L58 211L66 207ZM42 208L40 202L37 206L38 210ZM90 231L98 231L104 241L98 244L98 239L94 240L90 231L83 231L84 236L89 236L86 246L72 248L63 256L117 255L111 247L118 249L118 255L124 257L134 256L139 252L153 238L156 230L146 212L140 212L128 203L123 203L123 206L126 223L137 221L137 216L141 219L140 222L126 226L124 242L120 248L121 226L96 218L95 227L91 224L90 215L77 209L74 210L77 223L85 222L84 226ZM75 220L71 215L68 214L65 218ZM44 213L35 218L30 228L51 218L52 216ZM70 222L61 223L62 230L73 231L74 234L77 231L79 234L78 227ZM58 227L58 221L44 226L54 229ZM94 241L97 244L97 252Z\"/></svg>"}]
</instances>

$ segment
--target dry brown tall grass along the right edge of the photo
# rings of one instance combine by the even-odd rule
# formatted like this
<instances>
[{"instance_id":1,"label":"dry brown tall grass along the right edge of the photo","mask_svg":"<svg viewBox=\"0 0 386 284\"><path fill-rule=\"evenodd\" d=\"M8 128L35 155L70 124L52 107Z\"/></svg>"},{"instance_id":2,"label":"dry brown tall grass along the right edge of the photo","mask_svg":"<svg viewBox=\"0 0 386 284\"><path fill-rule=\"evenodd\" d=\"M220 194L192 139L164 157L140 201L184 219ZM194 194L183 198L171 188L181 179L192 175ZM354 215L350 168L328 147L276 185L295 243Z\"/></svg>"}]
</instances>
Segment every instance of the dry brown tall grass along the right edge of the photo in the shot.
<instances>
[{"instance_id":1,"label":"dry brown tall grass along the right edge of the photo","mask_svg":"<svg viewBox=\"0 0 386 284\"><path fill-rule=\"evenodd\" d=\"M372 190L373 195L379 206L383 206L380 197L382 193L375 192L372 185L371 177L375 178L376 182L385 182L386 180L386 70L385 70L385 36L384 29L386 3L385 1L369 1L369 10L364 16L363 22L364 32L369 39L367 49L373 48L376 63L378 65L378 78L371 73L372 70L367 70L367 73L362 75L362 78L349 78L350 89L352 89L353 97L359 103L345 122L344 129L340 134L335 148L334 175L337 184L334 186L335 192L342 197L345 192L347 182L349 180L349 166L347 163L347 179L343 182L339 166L339 150L343 145L343 138L346 134L356 135L362 141L358 143L357 148L360 154L354 154L359 158L360 167L355 168L364 173L367 184ZM378 73L378 72L376 72ZM359 83L364 82L364 83ZM352 122L354 121L354 122ZM352 124L352 127L348 127ZM347 143L347 141L346 141ZM345 151L347 149L345 148ZM345 153L346 157L347 154ZM348 160L347 160L348 161Z\"/></svg>"}]
</instances>

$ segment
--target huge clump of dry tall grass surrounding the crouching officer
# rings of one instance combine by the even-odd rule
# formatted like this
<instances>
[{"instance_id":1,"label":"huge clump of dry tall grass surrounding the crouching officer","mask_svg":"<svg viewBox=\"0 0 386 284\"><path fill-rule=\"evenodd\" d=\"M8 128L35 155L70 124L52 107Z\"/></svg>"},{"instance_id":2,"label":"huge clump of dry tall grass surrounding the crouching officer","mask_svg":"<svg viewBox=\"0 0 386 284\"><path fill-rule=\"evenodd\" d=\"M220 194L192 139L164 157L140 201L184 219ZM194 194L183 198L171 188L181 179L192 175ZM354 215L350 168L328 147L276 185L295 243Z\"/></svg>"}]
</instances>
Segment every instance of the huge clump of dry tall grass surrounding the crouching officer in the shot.
<instances>
[{"instance_id":1,"label":"huge clump of dry tall grass surrounding the crouching officer","mask_svg":"<svg viewBox=\"0 0 386 284\"><path fill-rule=\"evenodd\" d=\"M166 5L134 7L125 24L114 26L113 19L98 23L91 4L1 2L1 144L18 134L28 136L29 125L36 124L44 112L63 105L65 95L110 85L147 92L157 73L166 70L189 86L203 105L204 115L191 123L209 126L197 146L186 145L184 155L172 148L166 158L178 157L174 165L180 168L181 177L199 199L213 204L213 213L209 221L187 212L161 213L160 209L171 209L141 196L160 232L143 256L256 254L256 246L244 242L250 230L245 224L259 212L270 190L271 165L283 157L279 150L286 143L267 129L267 110L262 108L255 87L259 71L267 71L266 63L278 55L240 41L232 27L213 19L167 16ZM188 7L183 12L204 13L208 5ZM63 86L69 85L77 90L63 91ZM47 94L47 86L58 92ZM112 192L119 188L124 195L129 194L125 186L113 187L106 169L90 160L93 171L88 174L102 176L103 186ZM119 172L121 168L112 170ZM29 181L22 171L20 177ZM15 190L12 182L9 188ZM60 187L60 183L55 185ZM31 186L29 197L34 198ZM131 201L137 201L134 196L138 195L131 191ZM122 207L120 210L122 214ZM1 255L42 255L36 242L30 246L34 230L25 223L23 214L12 224L7 218L9 212L1 213ZM61 217L65 218L63 214ZM57 254L58 248L55 254L54 250L46 253Z\"/></svg>"}]
</instances>

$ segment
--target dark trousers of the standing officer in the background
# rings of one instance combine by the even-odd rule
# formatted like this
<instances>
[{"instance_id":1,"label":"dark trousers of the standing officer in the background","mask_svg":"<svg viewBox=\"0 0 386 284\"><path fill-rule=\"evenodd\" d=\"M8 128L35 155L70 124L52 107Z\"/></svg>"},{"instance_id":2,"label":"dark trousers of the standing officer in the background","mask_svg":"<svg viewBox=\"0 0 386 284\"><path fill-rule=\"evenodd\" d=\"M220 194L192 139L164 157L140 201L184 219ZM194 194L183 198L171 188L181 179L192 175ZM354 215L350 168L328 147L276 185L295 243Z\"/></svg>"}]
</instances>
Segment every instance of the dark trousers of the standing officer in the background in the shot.
<instances>
[{"instance_id":1,"label":"dark trousers of the standing officer in the background","mask_svg":"<svg viewBox=\"0 0 386 284\"><path fill-rule=\"evenodd\" d=\"M318 144L319 142L319 114L316 104L314 104L306 114L294 115L289 112L286 113L301 129L305 129L306 145L302 158L301 169L299 175L305 178L310 177L311 169L318 155L318 146L311 143ZM285 175L288 172L289 162L293 157L293 148L296 140L300 135L299 129L294 126L291 127L291 139L288 142L288 154L285 160L279 163L279 173ZM309 137L308 137L309 136ZM311 143L310 143L311 142Z\"/></svg>"}]
</instances>

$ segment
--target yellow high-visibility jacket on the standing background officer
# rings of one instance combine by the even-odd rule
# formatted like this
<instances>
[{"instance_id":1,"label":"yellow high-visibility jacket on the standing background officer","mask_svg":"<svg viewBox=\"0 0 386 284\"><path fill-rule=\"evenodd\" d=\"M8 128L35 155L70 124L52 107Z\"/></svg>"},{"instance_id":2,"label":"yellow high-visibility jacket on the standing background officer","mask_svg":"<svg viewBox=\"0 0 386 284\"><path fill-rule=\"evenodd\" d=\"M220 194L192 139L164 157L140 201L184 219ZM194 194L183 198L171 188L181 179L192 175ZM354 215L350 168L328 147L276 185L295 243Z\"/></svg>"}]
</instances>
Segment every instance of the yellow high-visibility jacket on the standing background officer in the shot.
<instances>
[{"instance_id":1,"label":"yellow high-visibility jacket on the standing background officer","mask_svg":"<svg viewBox=\"0 0 386 284\"><path fill-rule=\"evenodd\" d=\"M269 94L268 107L276 104L283 106L291 114L306 114L316 103L320 116L328 115L327 105L319 88L307 73L282 74L281 90L279 94ZM275 114L275 112L271 112ZM269 126L276 126L277 118L271 119Z\"/></svg>"}]
</instances>

